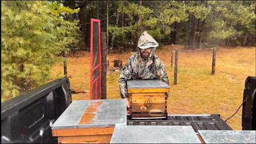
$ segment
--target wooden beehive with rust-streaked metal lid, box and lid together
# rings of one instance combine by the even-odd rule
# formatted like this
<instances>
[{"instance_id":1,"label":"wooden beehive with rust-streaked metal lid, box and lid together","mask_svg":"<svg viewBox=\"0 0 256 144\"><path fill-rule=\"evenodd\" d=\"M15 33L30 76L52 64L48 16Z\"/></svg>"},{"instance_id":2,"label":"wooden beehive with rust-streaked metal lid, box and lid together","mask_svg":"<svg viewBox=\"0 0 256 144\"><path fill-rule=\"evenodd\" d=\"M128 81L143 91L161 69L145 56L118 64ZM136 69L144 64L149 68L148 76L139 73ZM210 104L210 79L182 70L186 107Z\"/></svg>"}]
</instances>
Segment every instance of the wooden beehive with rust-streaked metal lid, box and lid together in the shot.
<instances>
[{"instance_id":1,"label":"wooden beehive with rust-streaked metal lid, box and lid together","mask_svg":"<svg viewBox=\"0 0 256 144\"><path fill-rule=\"evenodd\" d=\"M109 143L116 124L126 125L126 101L76 100L52 125L58 143Z\"/></svg>"}]
</instances>

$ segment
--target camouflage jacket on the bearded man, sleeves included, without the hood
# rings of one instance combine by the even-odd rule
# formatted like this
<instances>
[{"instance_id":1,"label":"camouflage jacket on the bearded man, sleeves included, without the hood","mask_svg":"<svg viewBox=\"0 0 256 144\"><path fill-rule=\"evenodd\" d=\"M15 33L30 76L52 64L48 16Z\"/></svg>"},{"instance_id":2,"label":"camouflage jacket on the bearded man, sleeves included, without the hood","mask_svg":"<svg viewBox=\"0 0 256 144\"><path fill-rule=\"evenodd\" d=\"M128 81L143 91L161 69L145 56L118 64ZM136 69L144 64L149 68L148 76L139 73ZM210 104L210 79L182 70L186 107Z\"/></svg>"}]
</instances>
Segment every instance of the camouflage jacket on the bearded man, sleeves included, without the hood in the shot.
<instances>
[{"instance_id":1,"label":"camouflage jacket on the bearded man, sleeves included, without the hood","mask_svg":"<svg viewBox=\"0 0 256 144\"><path fill-rule=\"evenodd\" d=\"M154 54L155 50L156 47L151 50L147 61L141 58L140 51L127 60L118 79L122 99L128 97L126 81L129 79L161 79L169 85L164 63Z\"/></svg>"}]
</instances>

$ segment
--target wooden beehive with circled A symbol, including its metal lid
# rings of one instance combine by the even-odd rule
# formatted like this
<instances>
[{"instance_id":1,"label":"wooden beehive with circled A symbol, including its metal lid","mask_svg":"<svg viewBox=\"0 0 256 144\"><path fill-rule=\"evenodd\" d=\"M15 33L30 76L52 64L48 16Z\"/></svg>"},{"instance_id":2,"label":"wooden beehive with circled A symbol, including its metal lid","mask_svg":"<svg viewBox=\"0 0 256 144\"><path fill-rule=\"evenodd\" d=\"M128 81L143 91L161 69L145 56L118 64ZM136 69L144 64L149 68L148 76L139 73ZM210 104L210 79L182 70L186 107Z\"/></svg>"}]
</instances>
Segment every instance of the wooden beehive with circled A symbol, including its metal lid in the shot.
<instances>
[{"instance_id":1,"label":"wooden beehive with circled A symbol, including its metal lid","mask_svg":"<svg viewBox=\"0 0 256 144\"><path fill-rule=\"evenodd\" d=\"M159 79L127 81L131 117L167 117L170 86Z\"/></svg>"}]
</instances>

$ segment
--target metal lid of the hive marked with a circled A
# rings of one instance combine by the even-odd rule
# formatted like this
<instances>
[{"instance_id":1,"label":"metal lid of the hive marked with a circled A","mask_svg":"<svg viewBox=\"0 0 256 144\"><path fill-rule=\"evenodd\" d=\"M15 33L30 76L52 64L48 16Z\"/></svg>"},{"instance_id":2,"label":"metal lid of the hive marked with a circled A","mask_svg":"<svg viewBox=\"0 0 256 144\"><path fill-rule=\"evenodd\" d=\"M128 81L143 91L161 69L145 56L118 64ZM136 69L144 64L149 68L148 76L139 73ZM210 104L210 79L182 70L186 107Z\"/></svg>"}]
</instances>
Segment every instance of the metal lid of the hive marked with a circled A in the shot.
<instances>
[{"instance_id":1,"label":"metal lid of the hive marked with a circled A","mask_svg":"<svg viewBox=\"0 0 256 144\"><path fill-rule=\"evenodd\" d=\"M127 89L169 89L170 86L160 79L131 79L127 81Z\"/></svg>"}]
</instances>

